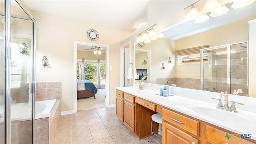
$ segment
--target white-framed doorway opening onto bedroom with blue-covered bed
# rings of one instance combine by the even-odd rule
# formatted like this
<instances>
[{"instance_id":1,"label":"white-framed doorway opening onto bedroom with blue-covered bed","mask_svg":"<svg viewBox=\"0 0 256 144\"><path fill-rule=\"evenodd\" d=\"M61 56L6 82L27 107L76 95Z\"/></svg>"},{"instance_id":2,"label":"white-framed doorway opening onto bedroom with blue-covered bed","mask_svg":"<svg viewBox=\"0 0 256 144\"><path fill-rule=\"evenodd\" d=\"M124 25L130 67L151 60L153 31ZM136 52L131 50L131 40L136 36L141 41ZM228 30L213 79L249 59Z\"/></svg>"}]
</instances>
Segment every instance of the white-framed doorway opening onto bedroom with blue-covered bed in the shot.
<instances>
[{"instance_id":1,"label":"white-framed doorway opening onto bedroom with blue-covered bed","mask_svg":"<svg viewBox=\"0 0 256 144\"><path fill-rule=\"evenodd\" d=\"M108 107L108 45L77 41L74 45L74 112Z\"/></svg>"}]
</instances>

